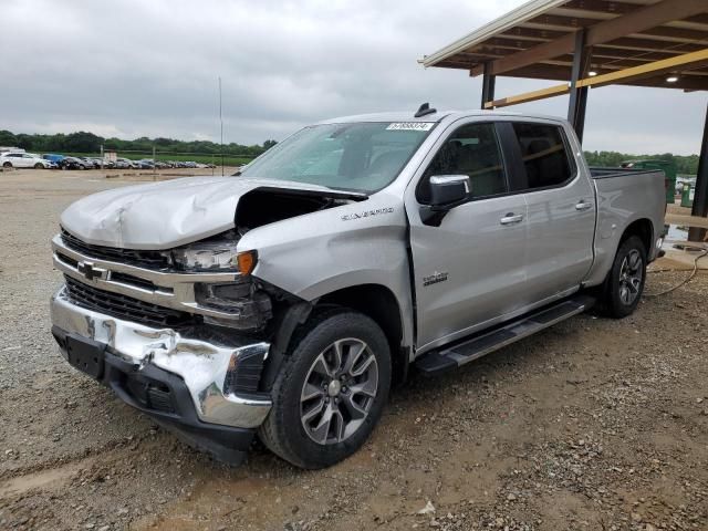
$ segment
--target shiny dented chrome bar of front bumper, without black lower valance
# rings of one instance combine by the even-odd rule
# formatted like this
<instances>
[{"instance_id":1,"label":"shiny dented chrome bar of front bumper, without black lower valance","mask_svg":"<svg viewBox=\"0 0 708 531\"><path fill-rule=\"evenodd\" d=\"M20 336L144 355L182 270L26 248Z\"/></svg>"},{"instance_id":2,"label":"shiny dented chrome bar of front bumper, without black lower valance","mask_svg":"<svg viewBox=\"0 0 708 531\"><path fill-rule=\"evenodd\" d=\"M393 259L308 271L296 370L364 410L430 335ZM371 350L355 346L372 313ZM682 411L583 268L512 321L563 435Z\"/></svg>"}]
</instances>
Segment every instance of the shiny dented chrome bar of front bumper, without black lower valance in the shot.
<instances>
[{"instance_id":1,"label":"shiny dented chrome bar of front bumper, without black lower valance","mask_svg":"<svg viewBox=\"0 0 708 531\"><path fill-rule=\"evenodd\" d=\"M108 361L115 358L132 367L132 376L147 376L154 368L178 378L201 423L257 428L270 412L270 397L257 392L270 348L267 342L233 336L231 344L223 344L195 331L143 326L73 304L65 289L52 299L51 312L54 335L67 361L107 385ZM98 367L101 360L105 374ZM149 404L164 402L159 385L148 385L145 393Z\"/></svg>"}]
</instances>

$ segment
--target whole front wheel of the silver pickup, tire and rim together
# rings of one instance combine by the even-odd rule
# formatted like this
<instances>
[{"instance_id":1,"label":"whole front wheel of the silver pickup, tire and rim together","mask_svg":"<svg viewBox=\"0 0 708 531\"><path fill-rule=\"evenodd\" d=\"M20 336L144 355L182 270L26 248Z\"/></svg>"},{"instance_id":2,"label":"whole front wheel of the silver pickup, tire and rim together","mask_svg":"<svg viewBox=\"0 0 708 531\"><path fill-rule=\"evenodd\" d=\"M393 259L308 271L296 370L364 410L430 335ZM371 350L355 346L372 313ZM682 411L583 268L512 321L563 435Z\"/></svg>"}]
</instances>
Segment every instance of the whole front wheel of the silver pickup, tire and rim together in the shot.
<instances>
[{"instance_id":1,"label":"whole front wheel of the silver pickup, tire and rim together","mask_svg":"<svg viewBox=\"0 0 708 531\"><path fill-rule=\"evenodd\" d=\"M378 421L391 388L391 351L378 325L340 310L293 337L259 435L281 458L324 468L354 454Z\"/></svg>"}]
</instances>

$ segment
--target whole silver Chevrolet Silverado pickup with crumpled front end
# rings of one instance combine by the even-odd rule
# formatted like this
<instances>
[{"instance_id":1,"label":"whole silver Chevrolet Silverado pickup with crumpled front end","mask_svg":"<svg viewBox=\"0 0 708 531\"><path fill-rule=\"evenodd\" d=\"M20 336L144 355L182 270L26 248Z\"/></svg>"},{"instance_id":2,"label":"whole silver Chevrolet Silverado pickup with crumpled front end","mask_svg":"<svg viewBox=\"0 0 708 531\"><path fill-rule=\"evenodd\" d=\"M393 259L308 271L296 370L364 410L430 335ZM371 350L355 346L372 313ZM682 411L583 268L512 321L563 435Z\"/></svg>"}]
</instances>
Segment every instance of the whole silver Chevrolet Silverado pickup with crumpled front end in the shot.
<instances>
[{"instance_id":1,"label":"whole silver Chevrolet Silverado pickup with crumpled front end","mask_svg":"<svg viewBox=\"0 0 708 531\"><path fill-rule=\"evenodd\" d=\"M218 459L366 440L410 367L454 369L597 303L632 313L660 171L591 170L570 125L498 112L305 127L230 177L83 198L52 240L71 365Z\"/></svg>"}]
</instances>

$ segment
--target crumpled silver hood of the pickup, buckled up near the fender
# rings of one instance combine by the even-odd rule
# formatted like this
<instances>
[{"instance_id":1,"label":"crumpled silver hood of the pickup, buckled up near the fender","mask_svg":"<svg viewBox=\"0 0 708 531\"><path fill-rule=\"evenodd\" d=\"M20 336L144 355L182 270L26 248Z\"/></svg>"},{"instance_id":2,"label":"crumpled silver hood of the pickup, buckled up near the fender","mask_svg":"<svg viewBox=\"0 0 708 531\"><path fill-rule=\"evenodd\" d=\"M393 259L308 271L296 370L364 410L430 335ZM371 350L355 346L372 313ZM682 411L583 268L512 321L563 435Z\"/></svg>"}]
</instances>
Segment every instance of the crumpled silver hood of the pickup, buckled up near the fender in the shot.
<instances>
[{"instance_id":1,"label":"crumpled silver hood of the pickup, buckled up near the fender","mask_svg":"<svg viewBox=\"0 0 708 531\"><path fill-rule=\"evenodd\" d=\"M191 177L87 196L61 216L81 240L125 249L170 249L232 229L238 200L259 187L329 190L243 177Z\"/></svg>"}]
</instances>

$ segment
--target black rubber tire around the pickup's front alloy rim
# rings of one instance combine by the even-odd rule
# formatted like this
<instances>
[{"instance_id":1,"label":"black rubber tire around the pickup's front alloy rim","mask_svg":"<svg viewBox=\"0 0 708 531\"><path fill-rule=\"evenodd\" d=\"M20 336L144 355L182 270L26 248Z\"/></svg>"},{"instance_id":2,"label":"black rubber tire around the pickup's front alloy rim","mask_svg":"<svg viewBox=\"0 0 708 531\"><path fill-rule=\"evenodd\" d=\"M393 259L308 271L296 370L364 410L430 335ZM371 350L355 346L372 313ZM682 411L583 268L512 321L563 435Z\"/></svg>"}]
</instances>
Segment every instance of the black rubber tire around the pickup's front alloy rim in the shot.
<instances>
[{"instance_id":1,"label":"black rubber tire around the pickup's front alloy rim","mask_svg":"<svg viewBox=\"0 0 708 531\"><path fill-rule=\"evenodd\" d=\"M350 340L363 343L366 350L362 351L358 357L366 356L367 366L373 366L369 358L372 356L375 358L374 368L377 371L375 396L364 398L367 408L365 417L347 425L345 415L351 409L346 406L357 395L352 394L351 399L345 404L346 398L344 395L339 395L339 392L337 397L330 396L330 387L324 382L325 391L322 392L321 397L314 398L316 404L312 410L321 406L320 400L326 400L327 404L321 406L322 417L319 421L313 417L313 424L323 424L322 419L330 407L330 400L332 400L332 408L344 413L339 415L340 420L335 421L333 427L332 420L326 424L326 429L320 431L325 434L325 441L317 442L313 435L309 435L305 430L306 412L303 413L303 408L306 407L304 406L306 403L302 399L305 383L309 384L312 382L310 378L317 377L319 373L314 371L317 360L331 352L330 348L334 347L335 342ZM352 352L353 347L341 358L350 356L356 358L357 356ZM366 371L368 372L369 368ZM336 384L339 388L339 381ZM333 383L331 382L330 385ZM389 388L391 352L381 327L366 315L352 310L337 309L315 314L293 336L290 352L283 361L271 391L273 408L259 428L259 436L273 454L292 465L308 469L329 467L354 454L366 441L381 418ZM351 392L351 388L342 387L343 394ZM335 400L341 405L334 405ZM330 419L334 417L330 416ZM336 439L337 431L343 435L350 427L352 433L348 436L343 437L342 440L331 440ZM331 430L334 431L332 438Z\"/></svg>"}]
</instances>

